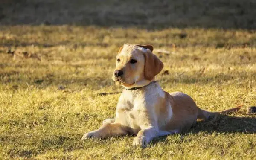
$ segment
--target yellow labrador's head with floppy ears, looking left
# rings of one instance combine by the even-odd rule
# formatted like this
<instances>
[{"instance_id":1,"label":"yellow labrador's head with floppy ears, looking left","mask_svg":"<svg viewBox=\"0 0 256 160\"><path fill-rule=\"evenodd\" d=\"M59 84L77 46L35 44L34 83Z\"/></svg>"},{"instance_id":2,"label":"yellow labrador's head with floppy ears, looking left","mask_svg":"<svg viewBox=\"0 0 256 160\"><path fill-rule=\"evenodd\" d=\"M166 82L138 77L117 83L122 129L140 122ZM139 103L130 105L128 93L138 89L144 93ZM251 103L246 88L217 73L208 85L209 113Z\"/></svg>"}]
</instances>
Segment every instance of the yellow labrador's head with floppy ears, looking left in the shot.
<instances>
[{"instance_id":1,"label":"yellow labrador's head with floppy ears, looking left","mask_svg":"<svg viewBox=\"0 0 256 160\"><path fill-rule=\"evenodd\" d=\"M163 63L152 53L153 46L124 44L116 56L112 79L126 88L143 87L154 80Z\"/></svg>"}]
</instances>

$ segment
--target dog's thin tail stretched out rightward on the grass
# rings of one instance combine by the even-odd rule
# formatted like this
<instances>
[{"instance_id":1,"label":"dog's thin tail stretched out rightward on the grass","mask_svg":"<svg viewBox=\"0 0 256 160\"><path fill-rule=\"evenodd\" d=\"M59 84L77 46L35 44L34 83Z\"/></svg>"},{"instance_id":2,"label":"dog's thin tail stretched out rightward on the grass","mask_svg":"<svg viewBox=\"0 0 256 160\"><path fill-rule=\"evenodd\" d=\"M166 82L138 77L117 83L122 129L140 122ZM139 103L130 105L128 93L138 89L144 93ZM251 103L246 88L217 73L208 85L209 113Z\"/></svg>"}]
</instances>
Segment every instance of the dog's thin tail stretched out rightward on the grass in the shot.
<instances>
[{"instance_id":1,"label":"dog's thin tail stretched out rightward on the grass","mask_svg":"<svg viewBox=\"0 0 256 160\"><path fill-rule=\"evenodd\" d=\"M242 106L243 105L239 105L236 108L231 108L231 109L227 109L227 110L219 111L219 112L209 112L209 111L203 110L203 109L198 107L198 116L197 116L197 118L201 119L201 120L207 120L212 116L216 116L217 114L226 114L226 113L230 113L230 112L239 111L242 108Z\"/></svg>"}]
</instances>

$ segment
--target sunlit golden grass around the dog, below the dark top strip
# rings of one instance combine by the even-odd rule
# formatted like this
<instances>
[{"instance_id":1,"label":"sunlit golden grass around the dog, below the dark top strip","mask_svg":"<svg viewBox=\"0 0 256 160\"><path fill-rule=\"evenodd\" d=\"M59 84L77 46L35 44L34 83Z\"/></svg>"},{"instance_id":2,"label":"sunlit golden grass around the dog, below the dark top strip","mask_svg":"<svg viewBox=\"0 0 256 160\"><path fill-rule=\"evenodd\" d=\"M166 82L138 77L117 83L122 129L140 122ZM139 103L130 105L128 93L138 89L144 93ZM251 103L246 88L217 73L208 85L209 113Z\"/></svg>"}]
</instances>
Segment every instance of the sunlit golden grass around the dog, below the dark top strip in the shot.
<instances>
[{"instance_id":1,"label":"sunlit golden grass around the dog, below the dark top strip","mask_svg":"<svg viewBox=\"0 0 256 160\"><path fill-rule=\"evenodd\" d=\"M255 158L256 120L255 116L244 114L246 107L256 104L255 34L187 29L187 37L180 38L177 34L182 31L172 28L1 28L1 158ZM230 38L231 33L236 34ZM250 46L244 42L250 42ZM213 124L199 123L188 134L157 138L146 149L133 148L134 137L130 136L81 142L84 132L115 116L122 88L114 85L111 74L116 51L124 43L152 44L155 49L170 52L156 53L164 63L157 76L164 90L187 93L209 111L241 104L244 108L231 118L221 117ZM37 54L41 61L14 60L7 53L9 49ZM166 70L169 74L164 75Z\"/></svg>"}]
</instances>

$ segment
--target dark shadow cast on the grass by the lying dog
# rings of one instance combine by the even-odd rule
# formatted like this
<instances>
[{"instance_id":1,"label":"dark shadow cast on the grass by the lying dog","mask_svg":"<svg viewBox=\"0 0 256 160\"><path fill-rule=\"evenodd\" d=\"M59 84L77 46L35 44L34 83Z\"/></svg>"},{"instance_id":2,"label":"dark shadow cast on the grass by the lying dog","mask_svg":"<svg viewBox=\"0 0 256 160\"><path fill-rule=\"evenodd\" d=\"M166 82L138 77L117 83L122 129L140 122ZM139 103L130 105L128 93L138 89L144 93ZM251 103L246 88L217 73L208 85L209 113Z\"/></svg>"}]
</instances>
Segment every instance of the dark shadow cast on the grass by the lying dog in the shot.
<instances>
[{"instance_id":1,"label":"dark shadow cast on the grass by the lying dog","mask_svg":"<svg viewBox=\"0 0 256 160\"><path fill-rule=\"evenodd\" d=\"M217 133L244 133L253 134L256 133L256 115L245 115L244 117L228 116L218 114L214 119L207 121L197 122L190 130L182 133L186 134L198 134L199 132L206 132L206 134ZM168 136L158 137L152 141L152 143L163 142Z\"/></svg>"}]
</instances>

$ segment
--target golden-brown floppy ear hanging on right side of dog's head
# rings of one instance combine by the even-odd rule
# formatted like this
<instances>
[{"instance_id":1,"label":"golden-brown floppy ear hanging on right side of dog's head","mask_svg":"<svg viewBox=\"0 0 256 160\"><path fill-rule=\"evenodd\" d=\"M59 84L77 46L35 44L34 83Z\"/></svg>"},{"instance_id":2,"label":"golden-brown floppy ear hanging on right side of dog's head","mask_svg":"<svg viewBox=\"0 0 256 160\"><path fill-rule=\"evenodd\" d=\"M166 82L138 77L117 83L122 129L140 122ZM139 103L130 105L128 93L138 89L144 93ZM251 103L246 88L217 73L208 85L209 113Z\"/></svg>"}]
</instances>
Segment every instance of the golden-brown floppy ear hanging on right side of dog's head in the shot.
<instances>
[{"instance_id":1,"label":"golden-brown floppy ear hanging on right side of dog's head","mask_svg":"<svg viewBox=\"0 0 256 160\"><path fill-rule=\"evenodd\" d=\"M153 47L152 47L153 50ZM154 76L161 72L163 69L163 62L154 55L151 51L144 52L145 67L144 75L147 80L152 80Z\"/></svg>"}]
</instances>

